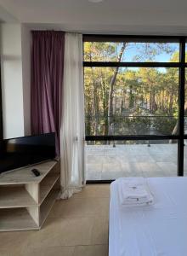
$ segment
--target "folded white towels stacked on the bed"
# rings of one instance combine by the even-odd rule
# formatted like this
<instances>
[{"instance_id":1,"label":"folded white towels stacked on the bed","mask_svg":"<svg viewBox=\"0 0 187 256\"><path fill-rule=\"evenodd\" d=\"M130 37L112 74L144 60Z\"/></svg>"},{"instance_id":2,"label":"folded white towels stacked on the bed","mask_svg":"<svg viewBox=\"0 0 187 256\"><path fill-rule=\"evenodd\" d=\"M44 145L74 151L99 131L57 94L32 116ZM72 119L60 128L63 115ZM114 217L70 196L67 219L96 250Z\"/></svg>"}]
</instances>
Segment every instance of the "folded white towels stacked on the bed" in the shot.
<instances>
[{"instance_id":1,"label":"folded white towels stacked on the bed","mask_svg":"<svg viewBox=\"0 0 187 256\"><path fill-rule=\"evenodd\" d=\"M153 203L153 196L143 177L119 179L118 192L122 205L147 206Z\"/></svg>"}]
</instances>

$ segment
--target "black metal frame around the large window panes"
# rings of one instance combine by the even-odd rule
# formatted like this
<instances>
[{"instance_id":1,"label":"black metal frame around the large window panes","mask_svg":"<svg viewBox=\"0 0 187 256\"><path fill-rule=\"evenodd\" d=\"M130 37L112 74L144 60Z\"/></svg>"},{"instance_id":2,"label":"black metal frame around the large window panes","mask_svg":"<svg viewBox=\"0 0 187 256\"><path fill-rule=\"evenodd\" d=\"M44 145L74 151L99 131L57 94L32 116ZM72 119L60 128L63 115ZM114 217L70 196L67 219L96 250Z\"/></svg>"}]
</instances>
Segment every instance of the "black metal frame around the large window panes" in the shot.
<instances>
[{"instance_id":1,"label":"black metal frame around the large window panes","mask_svg":"<svg viewBox=\"0 0 187 256\"><path fill-rule=\"evenodd\" d=\"M105 62L105 61L83 61L83 67L178 67L178 135L168 136L86 136L86 141L119 141L119 140L178 140L178 176L184 176L184 101L185 101L185 43L184 36L135 36L135 35L95 35L84 34L84 42L152 42L152 43L178 43L179 61L178 62ZM89 182L89 181L88 181ZM96 183L98 181L95 181ZM103 181L106 182L106 181Z\"/></svg>"}]
</instances>

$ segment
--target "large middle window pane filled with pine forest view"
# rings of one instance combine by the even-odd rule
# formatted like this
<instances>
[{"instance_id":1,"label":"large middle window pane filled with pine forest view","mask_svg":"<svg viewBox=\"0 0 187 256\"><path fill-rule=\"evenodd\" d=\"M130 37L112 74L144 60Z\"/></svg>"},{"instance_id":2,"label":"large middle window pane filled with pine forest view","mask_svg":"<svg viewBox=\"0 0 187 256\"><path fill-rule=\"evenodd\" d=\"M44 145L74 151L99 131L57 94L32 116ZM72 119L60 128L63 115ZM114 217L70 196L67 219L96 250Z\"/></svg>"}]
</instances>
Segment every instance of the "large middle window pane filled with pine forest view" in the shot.
<instances>
[{"instance_id":1,"label":"large middle window pane filled with pine forest view","mask_svg":"<svg viewBox=\"0 0 187 256\"><path fill-rule=\"evenodd\" d=\"M86 135L177 134L178 68L85 67Z\"/></svg>"}]
</instances>

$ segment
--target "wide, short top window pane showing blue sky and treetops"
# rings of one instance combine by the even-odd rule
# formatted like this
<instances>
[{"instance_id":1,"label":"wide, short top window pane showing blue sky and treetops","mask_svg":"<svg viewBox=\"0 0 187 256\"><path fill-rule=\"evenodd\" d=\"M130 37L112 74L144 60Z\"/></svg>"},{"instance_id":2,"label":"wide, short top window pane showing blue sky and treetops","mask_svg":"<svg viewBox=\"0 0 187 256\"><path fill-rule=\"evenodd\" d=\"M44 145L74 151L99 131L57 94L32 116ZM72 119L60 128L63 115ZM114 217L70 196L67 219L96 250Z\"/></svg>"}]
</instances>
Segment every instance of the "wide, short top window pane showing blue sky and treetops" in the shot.
<instances>
[{"instance_id":1,"label":"wide, short top window pane showing blue sky and treetops","mask_svg":"<svg viewBox=\"0 0 187 256\"><path fill-rule=\"evenodd\" d=\"M178 43L85 42L84 61L178 62Z\"/></svg>"}]
</instances>

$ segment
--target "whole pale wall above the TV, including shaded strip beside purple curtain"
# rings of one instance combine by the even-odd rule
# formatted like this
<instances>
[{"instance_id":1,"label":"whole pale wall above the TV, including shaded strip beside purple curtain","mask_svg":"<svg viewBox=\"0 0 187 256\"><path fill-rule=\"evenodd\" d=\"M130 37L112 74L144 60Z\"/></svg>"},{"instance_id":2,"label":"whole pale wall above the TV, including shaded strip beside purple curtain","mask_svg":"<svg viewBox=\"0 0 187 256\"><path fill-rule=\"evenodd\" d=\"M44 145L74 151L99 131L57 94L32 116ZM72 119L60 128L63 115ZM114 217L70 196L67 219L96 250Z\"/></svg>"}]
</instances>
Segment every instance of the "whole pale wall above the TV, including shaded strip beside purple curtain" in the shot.
<instances>
[{"instance_id":1,"label":"whole pale wall above the TV, including shaded strip beside purple curtain","mask_svg":"<svg viewBox=\"0 0 187 256\"><path fill-rule=\"evenodd\" d=\"M30 134L30 31L1 24L1 73L4 138Z\"/></svg>"}]
</instances>

